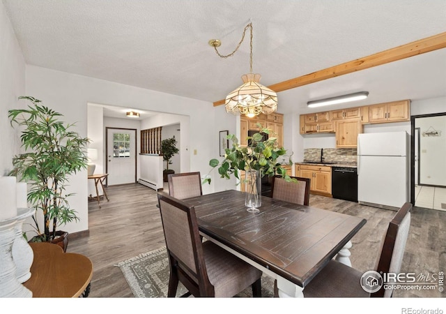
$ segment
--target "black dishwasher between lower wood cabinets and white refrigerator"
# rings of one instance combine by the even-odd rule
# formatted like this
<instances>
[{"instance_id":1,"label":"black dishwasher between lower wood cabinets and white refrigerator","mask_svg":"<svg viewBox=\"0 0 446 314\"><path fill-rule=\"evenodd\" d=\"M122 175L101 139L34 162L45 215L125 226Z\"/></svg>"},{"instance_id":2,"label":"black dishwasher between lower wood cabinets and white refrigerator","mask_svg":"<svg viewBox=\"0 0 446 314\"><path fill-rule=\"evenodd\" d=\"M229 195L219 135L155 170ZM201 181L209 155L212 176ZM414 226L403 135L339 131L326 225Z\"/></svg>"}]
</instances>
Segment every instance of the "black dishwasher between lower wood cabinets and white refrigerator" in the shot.
<instances>
[{"instance_id":1,"label":"black dishwasher between lower wood cabinets and white refrigerator","mask_svg":"<svg viewBox=\"0 0 446 314\"><path fill-rule=\"evenodd\" d=\"M357 169L332 167L332 195L339 200L357 202Z\"/></svg>"}]
</instances>

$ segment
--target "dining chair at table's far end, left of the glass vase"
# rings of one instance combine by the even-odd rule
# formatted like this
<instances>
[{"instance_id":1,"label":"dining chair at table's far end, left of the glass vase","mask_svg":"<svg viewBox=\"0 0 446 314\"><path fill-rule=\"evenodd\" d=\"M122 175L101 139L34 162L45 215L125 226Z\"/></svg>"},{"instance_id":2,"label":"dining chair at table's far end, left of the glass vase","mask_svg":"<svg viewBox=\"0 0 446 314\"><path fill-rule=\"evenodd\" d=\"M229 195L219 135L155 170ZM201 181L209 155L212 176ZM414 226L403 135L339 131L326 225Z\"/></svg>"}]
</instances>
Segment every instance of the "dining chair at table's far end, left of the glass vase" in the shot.
<instances>
[{"instance_id":1,"label":"dining chair at table's far end, left of the glass vase","mask_svg":"<svg viewBox=\"0 0 446 314\"><path fill-rule=\"evenodd\" d=\"M188 197L203 195L200 172L169 174L169 195L183 200Z\"/></svg>"}]
</instances>

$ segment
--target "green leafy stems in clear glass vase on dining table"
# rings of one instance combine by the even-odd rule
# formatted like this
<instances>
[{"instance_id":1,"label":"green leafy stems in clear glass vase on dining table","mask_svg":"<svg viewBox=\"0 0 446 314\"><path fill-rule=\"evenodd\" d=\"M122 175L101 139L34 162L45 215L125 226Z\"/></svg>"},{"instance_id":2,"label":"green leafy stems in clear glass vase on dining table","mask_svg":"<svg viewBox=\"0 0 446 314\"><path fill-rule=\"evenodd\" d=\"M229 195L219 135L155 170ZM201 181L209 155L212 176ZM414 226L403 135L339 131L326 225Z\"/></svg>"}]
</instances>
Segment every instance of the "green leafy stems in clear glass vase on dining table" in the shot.
<instances>
[{"instance_id":1,"label":"green leafy stems in clear glass vase on dining table","mask_svg":"<svg viewBox=\"0 0 446 314\"><path fill-rule=\"evenodd\" d=\"M271 130L257 124L260 131L252 137L247 137L247 147L240 146L236 135L227 135L232 147L225 149L224 159L211 159L210 167L217 168L221 178L230 179L231 175L239 179L240 184L245 184L245 205L248 211L256 213L261 207L261 178L280 175L286 181L297 182L286 174L284 160L288 157L287 165L293 165L291 156L286 155L286 149L277 147L277 137L268 137L263 140L263 134L270 135ZM282 159L282 160L281 160ZM211 170L212 171L212 170ZM245 172L245 178L241 179L240 171ZM203 184L210 184L210 177L203 179Z\"/></svg>"}]
</instances>

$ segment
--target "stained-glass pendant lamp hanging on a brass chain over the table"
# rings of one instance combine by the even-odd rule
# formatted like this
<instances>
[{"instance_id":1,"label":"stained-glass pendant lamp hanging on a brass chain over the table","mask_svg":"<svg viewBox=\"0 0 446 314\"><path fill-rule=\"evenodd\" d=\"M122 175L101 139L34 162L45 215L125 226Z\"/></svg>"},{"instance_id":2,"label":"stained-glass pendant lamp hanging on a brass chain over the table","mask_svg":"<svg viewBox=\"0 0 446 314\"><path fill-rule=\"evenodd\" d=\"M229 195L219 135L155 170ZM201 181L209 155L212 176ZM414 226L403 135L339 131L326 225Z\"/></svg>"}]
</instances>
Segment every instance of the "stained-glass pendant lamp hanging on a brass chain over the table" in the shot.
<instances>
[{"instance_id":1,"label":"stained-glass pendant lamp hanging on a brass chain over the table","mask_svg":"<svg viewBox=\"0 0 446 314\"><path fill-rule=\"evenodd\" d=\"M245 116L252 118L261 113L270 114L277 110L277 94L259 83L261 79L260 74L252 73L252 23L247 24L240 43L238 43L236 49L231 54L224 56L218 52L217 47L220 47L222 44L218 39L209 40L209 45L214 47L219 57L232 57L243 42L247 29L251 33L249 73L242 75L243 85L226 96L224 107L226 112L231 112L231 114L245 114Z\"/></svg>"}]
</instances>

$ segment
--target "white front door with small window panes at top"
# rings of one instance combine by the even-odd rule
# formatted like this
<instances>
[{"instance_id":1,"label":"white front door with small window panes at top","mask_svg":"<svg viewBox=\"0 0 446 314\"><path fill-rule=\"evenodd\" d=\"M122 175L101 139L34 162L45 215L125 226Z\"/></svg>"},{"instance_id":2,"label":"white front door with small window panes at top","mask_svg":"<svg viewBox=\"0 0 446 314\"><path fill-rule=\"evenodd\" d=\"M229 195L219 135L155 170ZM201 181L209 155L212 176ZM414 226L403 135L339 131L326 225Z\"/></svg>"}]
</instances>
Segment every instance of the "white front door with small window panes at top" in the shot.
<instances>
[{"instance_id":1,"label":"white front door with small window panes at top","mask_svg":"<svg viewBox=\"0 0 446 314\"><path fill-rule=\"evenodd\" d=\"M107 128L107 185L136 182L135 129Z\"/></svg>"}]
</instances>

